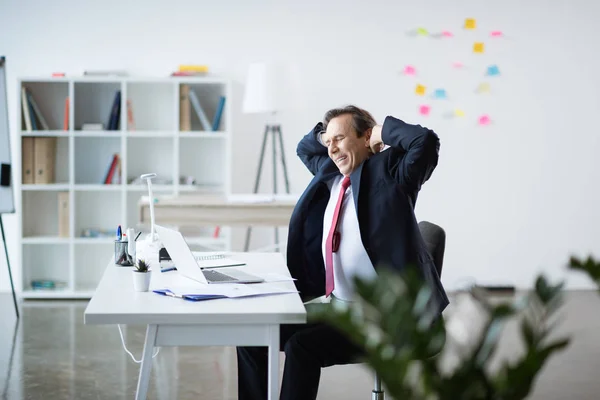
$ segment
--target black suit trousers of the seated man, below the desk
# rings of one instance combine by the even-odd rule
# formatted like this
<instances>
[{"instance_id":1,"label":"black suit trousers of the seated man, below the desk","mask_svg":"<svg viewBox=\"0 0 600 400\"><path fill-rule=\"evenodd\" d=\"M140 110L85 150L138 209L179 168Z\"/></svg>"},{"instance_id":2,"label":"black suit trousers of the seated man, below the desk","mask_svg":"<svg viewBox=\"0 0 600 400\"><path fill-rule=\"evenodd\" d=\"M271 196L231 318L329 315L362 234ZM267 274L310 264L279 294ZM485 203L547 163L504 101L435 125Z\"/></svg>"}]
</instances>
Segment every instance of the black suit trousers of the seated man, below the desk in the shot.
<instances>
[{"instance_id":1,"label":"black suit trousers of the seated man, below the desk","mask_svg":"<svg viewBox=\"0 0 600 400\"><path fill-rule=\"evenodd\" d=\"M323 323L281 325L285 352L282 400L317 398L321 368L357 362L362 351L337 329ZM238 399L267 399L267 347L238 347Z\"/></svg>"}]
</instances>

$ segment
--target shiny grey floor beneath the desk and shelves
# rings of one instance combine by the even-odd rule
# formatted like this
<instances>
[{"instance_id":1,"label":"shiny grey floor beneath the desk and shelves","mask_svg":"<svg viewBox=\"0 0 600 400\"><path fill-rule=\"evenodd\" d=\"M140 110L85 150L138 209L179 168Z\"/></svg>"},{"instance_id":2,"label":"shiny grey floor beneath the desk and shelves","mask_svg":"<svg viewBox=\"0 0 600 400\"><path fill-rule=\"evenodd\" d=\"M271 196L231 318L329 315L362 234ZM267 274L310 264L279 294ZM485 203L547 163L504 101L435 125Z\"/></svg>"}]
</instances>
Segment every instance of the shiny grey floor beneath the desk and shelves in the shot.
<instances>
[{"instance_id":1,"label":"shiny grey floor beneath the desk and shelves","mask_svg":"<svg viewBox=\"0 0 600 400\"><path fill-rule=\"evenodd\" d=\"M0 391L3 399L132 399L138 364L123 351L116 326L83 325L83 301L25 302L15 324L12 298L0 295ZM600 398L600 295L570 292L561 333L573 342L537 380L532 399ZM15 329L16 327L16 329ZM124 330L139 358L144 329ZM514 325L503 331L496 363L519 352ZM155 358L149 399L236 399L235 350L163 348ZM326 368L319 399L370 399L362 365Z\"/></svg>"}]
</instances>

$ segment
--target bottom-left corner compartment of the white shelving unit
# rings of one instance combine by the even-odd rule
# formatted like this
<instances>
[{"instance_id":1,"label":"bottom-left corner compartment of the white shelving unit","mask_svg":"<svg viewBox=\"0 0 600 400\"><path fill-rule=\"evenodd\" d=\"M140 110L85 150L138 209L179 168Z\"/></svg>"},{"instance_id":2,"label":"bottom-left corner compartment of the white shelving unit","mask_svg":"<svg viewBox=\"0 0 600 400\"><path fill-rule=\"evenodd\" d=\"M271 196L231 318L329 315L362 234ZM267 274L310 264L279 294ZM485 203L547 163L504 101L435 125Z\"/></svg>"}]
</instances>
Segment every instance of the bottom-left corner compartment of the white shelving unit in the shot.
<instances>
[{"instance_id":1,"label":"bottom-left corner compartment of the white shelving unit","mask_svg":"<svg viewBox=\"0 0 600 400\"><path fill-rule=\"evenodd\" d=\"M23 289L38 293L70 290L68 244L24 244L23 245ZM34 288L37 281L41 288ZM54 282L54 287L49 283Z\"/></svg>"}]
</instances>

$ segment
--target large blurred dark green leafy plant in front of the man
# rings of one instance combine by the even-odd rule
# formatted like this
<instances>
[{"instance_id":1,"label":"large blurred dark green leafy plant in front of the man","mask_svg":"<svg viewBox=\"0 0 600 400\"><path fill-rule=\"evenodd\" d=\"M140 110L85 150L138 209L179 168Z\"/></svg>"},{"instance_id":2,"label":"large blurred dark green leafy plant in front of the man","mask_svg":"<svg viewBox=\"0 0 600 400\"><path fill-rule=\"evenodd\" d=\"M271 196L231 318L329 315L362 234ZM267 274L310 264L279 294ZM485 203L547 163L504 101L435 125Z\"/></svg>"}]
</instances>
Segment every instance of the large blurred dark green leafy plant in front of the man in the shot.
<instances>
[{"instance_id":1,"label":"large blurred dark green leafy plant in front of the man","mask_svg":"<svg viewBox=\"0 0 600 400\"><path fill-rule=\"evenodd\" d=\"M443 371L448 323L436 319L431 291L414 270L402 276L381 268L372 281L356 279L357 301L308 308L309 319L339 328L365 349L364 361L377 372L386 396L398 400L513 400L526 398L548 358L564 349L568 338L551 340L563 284L544 276L518 300L491 302L474 288L466 293L483 310L482 328L462 347L451 371ZM465 313L462 313L465 314ZM469 316L464 331L473 329ZM462 318L465 318L463 315ZM472 316L476 318L476 316ZM503 325L520 318L523 352L519 358L490 368ZM457 321L453 321L456 326ZM447 332L448 331L448 332Z\"/></svg>"}]
</instances>

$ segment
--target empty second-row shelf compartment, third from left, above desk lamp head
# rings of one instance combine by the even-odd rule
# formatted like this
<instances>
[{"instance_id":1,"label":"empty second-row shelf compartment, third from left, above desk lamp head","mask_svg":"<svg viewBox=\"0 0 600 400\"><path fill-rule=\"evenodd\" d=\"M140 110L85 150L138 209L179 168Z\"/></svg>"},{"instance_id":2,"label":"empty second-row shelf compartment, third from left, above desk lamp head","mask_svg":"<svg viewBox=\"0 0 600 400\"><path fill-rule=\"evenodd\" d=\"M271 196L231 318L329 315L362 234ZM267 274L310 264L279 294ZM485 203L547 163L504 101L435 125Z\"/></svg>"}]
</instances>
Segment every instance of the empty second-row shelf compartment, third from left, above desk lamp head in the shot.
<instances>
[{"instance_id":1,"label":"empty second-row shelf compartment, third from left, above desk lamp head","mask_svg":"<svg viewBox=\"0 0 600 400\"><path fill-rule=\"evenodd\" d=\"M172 138L127 138L127 182L133 185L145 184L139 178L142 174L155 172L154 185L172 185L175 160L173 159L174 139ZM144 185L145 186L145 185Z\"/></svg>"}]
</instances>

